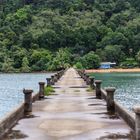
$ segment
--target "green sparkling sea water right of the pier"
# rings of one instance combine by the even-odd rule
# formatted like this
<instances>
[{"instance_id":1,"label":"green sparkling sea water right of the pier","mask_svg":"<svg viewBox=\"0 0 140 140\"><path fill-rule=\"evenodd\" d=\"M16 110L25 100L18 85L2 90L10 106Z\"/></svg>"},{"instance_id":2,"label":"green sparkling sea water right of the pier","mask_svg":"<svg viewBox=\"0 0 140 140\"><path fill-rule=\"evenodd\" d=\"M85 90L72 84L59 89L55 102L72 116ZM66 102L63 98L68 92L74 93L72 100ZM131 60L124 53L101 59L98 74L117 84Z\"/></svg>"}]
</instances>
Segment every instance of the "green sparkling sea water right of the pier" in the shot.
<instances>
[{"instance_id":1,"label":"green sparkling sea water right of the pier","mask_svg":"<svg viewBox=\"0 0 140 140\"><path fill-rule=\"evenodd\" d=\"M140 73L95 73L95 79L103 80L102 87L116 87L115 100L129 110L140 105Z\"/></svg>"}]
</instances>

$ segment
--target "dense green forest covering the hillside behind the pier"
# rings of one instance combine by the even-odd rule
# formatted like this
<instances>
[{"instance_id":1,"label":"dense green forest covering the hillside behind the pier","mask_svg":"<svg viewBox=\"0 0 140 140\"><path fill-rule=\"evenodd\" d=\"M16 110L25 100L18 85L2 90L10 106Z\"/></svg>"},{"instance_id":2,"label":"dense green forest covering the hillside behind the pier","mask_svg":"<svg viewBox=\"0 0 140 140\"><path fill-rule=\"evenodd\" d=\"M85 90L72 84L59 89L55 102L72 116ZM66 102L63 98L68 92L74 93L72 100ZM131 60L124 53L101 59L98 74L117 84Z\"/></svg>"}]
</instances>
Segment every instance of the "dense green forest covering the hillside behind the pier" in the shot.
<instances>
[{"instance_id":1,"label":"dense green forest covering the hillside behind the pier","mask_svg":"<svg viewBox=\"0 0 140 140\"><path fill-rule=\"evenodd\" d=\"M0 71L140 66L139 0L0 1Z\"/></svg>"}]
</instances>

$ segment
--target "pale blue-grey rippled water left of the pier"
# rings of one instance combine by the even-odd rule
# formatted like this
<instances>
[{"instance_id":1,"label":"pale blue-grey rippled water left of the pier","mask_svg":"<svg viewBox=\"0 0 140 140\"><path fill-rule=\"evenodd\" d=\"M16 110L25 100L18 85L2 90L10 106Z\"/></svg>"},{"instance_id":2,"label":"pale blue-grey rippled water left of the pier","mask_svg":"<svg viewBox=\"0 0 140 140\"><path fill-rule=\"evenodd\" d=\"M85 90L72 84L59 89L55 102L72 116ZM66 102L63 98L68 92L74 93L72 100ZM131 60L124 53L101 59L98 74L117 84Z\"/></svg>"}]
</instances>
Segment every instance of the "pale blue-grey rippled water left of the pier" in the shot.
<instances>
[{"instance_id":1,"label":"pale blue-grey rippled water left of the pier","mask_svg":"<svg viewBox=\"0 0 140 140\"><path fill-rule=\"evenodd\" d=\"M52 73L0 74L0 118L23 102L23 88L39 90L38 82L46 82Z\"/></svg>"}]
</instances>

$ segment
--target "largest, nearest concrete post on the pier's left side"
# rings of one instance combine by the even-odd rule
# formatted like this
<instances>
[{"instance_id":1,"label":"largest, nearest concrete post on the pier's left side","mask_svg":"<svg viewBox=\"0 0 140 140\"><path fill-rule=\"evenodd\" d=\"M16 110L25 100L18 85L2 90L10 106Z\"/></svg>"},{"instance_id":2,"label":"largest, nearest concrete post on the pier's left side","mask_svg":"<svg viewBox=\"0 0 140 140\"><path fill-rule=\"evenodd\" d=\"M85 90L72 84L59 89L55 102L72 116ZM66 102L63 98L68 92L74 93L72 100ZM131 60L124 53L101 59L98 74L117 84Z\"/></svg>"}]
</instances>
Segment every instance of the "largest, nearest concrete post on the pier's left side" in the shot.
<instances>
[{"instance_id":1,"label":"largest, nearest concrete post on the pier's left side","mask_svg":"<svg viewBox=\"0 0 140 140\"><path fill-rule=\"evenodd\" d=\"M32 93L33 90L23 89L24 93L24 113L25 115L29 115L32 112Z\"/></svg>"}]
</instances>

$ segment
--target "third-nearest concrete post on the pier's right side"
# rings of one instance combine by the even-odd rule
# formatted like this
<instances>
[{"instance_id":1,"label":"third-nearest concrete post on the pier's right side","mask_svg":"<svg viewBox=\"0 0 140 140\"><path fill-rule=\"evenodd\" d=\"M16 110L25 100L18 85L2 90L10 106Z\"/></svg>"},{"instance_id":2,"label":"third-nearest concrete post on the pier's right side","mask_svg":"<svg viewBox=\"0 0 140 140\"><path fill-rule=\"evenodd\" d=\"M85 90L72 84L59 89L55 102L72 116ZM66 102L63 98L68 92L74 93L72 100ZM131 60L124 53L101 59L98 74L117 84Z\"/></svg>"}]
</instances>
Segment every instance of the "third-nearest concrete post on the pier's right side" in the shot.
<instances>
[{"instance_id":1,"label":"third-nearest concrete post on the pier's right side","mask_svg":"<svg viewBox=\"0 0 140 140\"><path fill-rule=\"evenodd\" d=\"M96 84L96 98L97 99L101 99L101 80L95 80L95 84Z\"/></svg>"}]
</instances>

